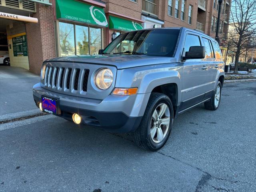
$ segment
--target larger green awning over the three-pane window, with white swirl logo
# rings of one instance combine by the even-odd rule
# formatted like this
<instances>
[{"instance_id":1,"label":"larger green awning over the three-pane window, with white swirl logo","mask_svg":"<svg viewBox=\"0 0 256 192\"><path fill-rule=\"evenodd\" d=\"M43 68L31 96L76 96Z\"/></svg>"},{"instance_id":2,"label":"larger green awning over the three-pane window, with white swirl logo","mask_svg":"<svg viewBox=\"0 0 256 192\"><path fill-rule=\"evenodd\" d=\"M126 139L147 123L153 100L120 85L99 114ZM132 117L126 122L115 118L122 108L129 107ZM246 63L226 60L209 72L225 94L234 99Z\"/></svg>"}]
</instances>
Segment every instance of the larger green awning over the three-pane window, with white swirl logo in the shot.
<instances>
[{"instance_id":1,"label":"larger green awning over the three-pane window, with white swirl logo","mask_svg":"<svg viewBox=\"0 0 256 192\"><path fill-rule=\"evenodd\" d=\"M57 19L108 26L103 8L75 0L56 0L56 17Z\"/></svg>"}]
</instances>

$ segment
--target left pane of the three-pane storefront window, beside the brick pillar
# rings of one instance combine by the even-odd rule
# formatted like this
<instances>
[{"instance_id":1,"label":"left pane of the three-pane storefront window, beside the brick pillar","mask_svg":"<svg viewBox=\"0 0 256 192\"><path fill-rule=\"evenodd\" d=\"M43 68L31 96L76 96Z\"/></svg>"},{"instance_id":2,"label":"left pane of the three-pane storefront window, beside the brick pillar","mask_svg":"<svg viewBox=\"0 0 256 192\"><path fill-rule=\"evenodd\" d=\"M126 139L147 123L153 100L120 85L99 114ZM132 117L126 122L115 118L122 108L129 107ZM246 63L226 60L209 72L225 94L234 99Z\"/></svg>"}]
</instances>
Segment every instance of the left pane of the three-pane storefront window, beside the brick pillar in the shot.
<instances>
[{"instance_id":1,"label":"left pane of the three-pane storefront window, beside the brick pillar","mask_svg":"<svg viewBox=\"0 0 256 192\"><path fill-rule=\"evenodd\" d=\"M74 54L74 25L60 22L60 56L71 56Z\"/></svg>"}]
</instances>

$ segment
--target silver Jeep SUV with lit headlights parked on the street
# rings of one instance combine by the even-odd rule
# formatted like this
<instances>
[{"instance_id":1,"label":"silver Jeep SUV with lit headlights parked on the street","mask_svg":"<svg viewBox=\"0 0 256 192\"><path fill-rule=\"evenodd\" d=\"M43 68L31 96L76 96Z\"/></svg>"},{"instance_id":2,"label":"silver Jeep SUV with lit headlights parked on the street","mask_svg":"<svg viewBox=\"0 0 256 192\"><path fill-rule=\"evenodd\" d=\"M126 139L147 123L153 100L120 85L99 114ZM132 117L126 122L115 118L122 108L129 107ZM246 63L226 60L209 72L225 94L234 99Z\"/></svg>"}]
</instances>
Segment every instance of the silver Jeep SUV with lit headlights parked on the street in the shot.
<instances>
[{"instance_id":1,"label":"silver Jeep SUV with lit headlights parked on the street","mask_svg":"<svg viewBox=\"0 0 256 192\"><path fill-rule=\"evenodd\" d=\"M98 55L46 60L33 87L36 105L76 124L132 132L138 146L158 150L174 117L220 104L224 62L218 43L187 28L120 34Z\"/></svg>"}]
</instances>

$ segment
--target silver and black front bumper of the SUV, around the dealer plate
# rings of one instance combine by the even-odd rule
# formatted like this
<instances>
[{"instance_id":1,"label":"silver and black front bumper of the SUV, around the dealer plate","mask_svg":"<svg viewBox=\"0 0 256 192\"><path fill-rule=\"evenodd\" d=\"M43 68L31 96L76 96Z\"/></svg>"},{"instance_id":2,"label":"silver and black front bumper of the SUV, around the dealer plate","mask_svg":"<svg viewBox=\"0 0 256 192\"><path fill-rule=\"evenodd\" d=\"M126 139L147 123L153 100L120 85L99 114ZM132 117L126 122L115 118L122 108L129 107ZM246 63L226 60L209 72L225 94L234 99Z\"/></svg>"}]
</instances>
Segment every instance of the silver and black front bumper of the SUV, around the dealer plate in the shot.
<instances>
[{"instance_id":1,"label":"silver and black front bumper of the SUV, around the dealer plate","mask_svg":"<svg viewBox=\"0 0 256 192\"><path fill-rule=\"evenodd\" d=\"M82 123L110 132L132 132L138 128L150 93L132 96L109 95L104 100L68 96L40 87L33 87L36 105L42 95L58 98L58 116L72 120L72 114L82 116Z\"/></svg>"}]
</instances>

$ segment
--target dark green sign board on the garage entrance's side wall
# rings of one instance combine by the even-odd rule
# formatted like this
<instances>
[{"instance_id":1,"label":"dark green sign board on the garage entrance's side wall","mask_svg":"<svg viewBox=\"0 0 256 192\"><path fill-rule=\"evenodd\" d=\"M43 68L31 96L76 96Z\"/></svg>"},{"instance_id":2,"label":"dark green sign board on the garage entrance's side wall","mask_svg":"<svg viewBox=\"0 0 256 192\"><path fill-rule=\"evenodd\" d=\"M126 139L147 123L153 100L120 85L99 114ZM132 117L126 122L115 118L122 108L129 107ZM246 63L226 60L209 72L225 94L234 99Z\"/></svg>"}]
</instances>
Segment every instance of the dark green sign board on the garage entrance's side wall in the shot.
<instances>
[{"instance_id":1,"label":"dark green sign board on the garage entrance's side wall","mask_svg":"<svg viewBox=\"0 0 256 192\"><path fill-rule=\"evenodd\" d=\"M28 56L26 35L12 38L13 56Z\"/></svg>"}]
</instances>

